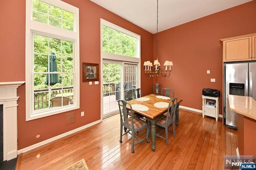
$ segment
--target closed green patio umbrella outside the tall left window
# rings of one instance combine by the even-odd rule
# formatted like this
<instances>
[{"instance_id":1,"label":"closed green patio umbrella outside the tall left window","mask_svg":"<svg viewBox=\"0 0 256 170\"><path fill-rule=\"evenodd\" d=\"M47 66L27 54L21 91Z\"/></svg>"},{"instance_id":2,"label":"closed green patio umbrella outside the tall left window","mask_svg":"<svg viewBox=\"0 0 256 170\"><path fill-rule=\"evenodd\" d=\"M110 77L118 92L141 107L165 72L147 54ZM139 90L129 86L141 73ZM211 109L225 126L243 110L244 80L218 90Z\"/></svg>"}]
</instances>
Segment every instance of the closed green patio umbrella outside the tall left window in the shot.
<instances>
[{"instance_id":1,"label":"closed green patio umbrella outside the tall left window","mask_svg":"<svg viewBox=\"0 0 256 170\"><path fill-rule=\"evenodd\" d=\"M58 71L57 70L57 61L56 61L57 57L55 55L55 53L52 51L51 55L50 55L50 61L49 61L49 65L47 67L47 71L49 72L55 72ZM59 83L59 77L58 74L52 74L50 73L50 77L49 74L46 74L46 82L45 84L47 85L55 85L56 83Z\"/></svg>"}]
</instances>

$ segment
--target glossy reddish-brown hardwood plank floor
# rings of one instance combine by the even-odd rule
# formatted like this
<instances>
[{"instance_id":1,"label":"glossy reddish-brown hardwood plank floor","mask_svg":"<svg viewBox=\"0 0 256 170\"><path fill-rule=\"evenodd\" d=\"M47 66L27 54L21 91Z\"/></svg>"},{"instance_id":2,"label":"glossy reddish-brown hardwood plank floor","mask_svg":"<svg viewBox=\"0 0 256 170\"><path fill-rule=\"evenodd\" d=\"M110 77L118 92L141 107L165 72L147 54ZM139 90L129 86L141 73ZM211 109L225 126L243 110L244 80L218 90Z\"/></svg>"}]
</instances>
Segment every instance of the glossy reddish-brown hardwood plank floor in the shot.
<instances>
[{"instance_id":1,"label":"glossy reddish-brown hardwood plank floor","mask_svg":"<svg viewBox=\"0 0 256 170\"><path fill-rule=\"evenodd\" d=\"M157 127L159 130L160 127ZM144 135L146 130L139 132ZM156 138L156 151L144 140L134 146L131 136L120 139L120 116L114 115L102 123L86 128L34 150L23 153L16 169L64 169L84 158L90 170L101 169L224 169L224 155L236 154L237 131L226 128L222 120L202 118L201 114L180 109L176 137L169 132L169 145ZM151 138L150 138L151 140Z\"/></svg>"}]
</instances>

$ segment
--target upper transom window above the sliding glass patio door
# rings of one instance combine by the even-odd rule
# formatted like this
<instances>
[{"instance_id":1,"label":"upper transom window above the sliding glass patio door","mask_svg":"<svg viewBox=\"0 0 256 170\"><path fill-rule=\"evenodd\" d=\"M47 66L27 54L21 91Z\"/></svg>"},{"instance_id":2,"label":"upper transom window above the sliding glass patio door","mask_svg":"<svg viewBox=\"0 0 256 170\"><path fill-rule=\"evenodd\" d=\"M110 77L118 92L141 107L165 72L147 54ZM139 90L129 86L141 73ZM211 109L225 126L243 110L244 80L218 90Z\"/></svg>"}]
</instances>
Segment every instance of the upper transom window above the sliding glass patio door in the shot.
<instances>
[{"instance_id":1,"label":"upper transom window above the sliding glass patio door","mask_svg":"<svg viewBox=\"0 0 256 170\"><path fill-rule=\"evenodd\" d=\"M101 19L101 35L103 59L140 62L138 34Z\"/></svg>"}]
</instances>

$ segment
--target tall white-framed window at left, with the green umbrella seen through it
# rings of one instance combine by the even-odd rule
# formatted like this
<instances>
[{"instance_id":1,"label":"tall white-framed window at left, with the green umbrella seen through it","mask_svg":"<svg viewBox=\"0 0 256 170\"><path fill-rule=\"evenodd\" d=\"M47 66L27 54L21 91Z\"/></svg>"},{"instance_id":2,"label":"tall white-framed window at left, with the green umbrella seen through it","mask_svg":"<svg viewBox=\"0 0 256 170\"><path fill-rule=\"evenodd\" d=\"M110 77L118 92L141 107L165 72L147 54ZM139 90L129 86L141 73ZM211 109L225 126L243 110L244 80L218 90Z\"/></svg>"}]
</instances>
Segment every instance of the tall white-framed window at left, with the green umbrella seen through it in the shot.
<instances>
[{"instance_id":1,"label":"tall white-framed window at left, with the green umbrella seen through it","mask_svg":"<svg viewBox=\"0 0 256 170\"><path fill-rule=\"evenodd\" d=\"M26 0L26 121L79 109L79 10Z\"/></svg>"}]
</instances>

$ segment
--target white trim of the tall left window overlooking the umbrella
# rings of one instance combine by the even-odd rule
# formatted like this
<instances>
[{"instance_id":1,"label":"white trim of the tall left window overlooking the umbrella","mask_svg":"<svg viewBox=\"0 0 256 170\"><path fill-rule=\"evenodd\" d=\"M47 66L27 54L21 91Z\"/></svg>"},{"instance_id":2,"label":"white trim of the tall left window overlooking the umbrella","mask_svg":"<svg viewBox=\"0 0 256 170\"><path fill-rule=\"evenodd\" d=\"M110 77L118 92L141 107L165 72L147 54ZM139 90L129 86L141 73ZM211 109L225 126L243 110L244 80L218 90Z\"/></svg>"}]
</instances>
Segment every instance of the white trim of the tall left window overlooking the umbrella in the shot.
<instances>
[{"instance_id":1,"label":"white trim of the tall left window overlooking the umbrella","mask_svg":"<svg viewBox=\"0 0 256 170\"><path fill-rule=\"evenodd\" d=\"M74 14L74 31L64 30L55 26L43 24L32 20L32 0L26 0L26 121L63 113L80 108L80 55L79 55L79 9L60 0L41 0L48 4L57 6ZM46 109L47 111L34 113L33 61L32 61L32 35L50 36L74 43L74 105L61 107L60 109Z\"/></svg>"}]
</instances>

